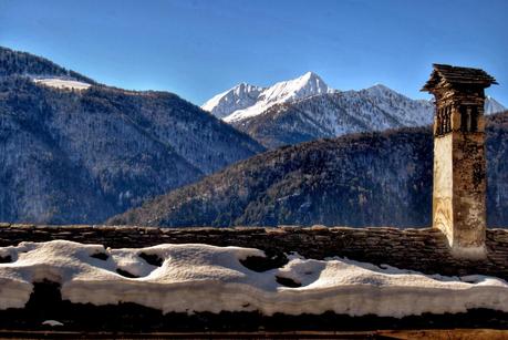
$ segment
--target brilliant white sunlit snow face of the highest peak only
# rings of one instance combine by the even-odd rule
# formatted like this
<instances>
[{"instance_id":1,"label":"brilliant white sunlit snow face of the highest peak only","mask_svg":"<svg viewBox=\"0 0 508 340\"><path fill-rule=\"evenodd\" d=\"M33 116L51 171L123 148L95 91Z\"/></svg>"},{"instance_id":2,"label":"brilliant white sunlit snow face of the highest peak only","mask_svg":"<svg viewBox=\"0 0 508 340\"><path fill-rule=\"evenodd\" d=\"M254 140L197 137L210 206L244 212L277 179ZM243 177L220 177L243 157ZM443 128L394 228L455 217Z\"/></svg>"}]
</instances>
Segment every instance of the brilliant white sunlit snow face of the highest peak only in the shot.
<instances>
[{"instance_id":1,"label":"brilliant white sunlit snow face of the highest peak only","mask_svg":"<svg viewBox=\"0 0 508 340\"><path fill-rule=\"evenodd\" d=\"M253 105L245 109L237 109L235 112L224 117L224 121L228 123L241 121L259 115L276 104L288 103L311 95L330 93L333 90L331 90L318 74L307 72L300 78L279 82L263 90Z\"/></svg>"}]
</instances>

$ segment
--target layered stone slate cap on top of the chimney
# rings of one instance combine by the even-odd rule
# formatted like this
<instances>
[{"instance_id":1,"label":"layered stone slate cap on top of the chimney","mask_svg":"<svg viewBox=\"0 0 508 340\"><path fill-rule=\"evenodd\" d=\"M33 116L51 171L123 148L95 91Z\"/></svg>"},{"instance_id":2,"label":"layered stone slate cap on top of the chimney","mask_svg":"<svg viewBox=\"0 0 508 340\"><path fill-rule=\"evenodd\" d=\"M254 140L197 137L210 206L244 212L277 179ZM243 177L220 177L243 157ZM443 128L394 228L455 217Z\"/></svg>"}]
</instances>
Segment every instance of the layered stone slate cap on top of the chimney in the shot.
<instances>
[{"instance_id":1,"label":"layered stone slate cap on top of the chimney","mask_svg":"<svg viewBox=\"0 0 508 340\"><path fill-rule=\"evenodd\" d=\"M431 79L423 86L422 91L431 91L435 87L448 84L470 84L488 87L497 84L497 81L487 72L480 69L458 68L446 64L433 64L434 70Z\"/></svg>"}]
</instances>

